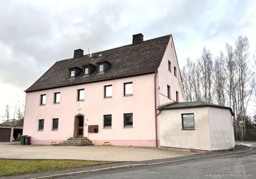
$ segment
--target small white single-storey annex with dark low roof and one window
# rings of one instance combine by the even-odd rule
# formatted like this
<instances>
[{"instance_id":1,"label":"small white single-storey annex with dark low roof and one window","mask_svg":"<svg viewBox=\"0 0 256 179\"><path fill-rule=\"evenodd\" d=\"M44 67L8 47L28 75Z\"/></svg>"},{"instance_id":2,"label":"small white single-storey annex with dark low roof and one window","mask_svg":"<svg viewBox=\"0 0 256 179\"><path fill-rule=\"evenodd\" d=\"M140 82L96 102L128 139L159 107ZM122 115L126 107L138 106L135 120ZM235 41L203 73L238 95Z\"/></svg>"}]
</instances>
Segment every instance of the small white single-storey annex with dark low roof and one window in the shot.
<instances>
[{"instance_id":1,"label":"small white single-storey annex with dark low roof and one window","mask_svg":"<svg viewBox=\"0 0 256 179\"><path fill-rule=\"evenodd\" d=\"M206 102L179 102L159 107L161 147L226 150L235 147L233 111Z\"/></svg>"}]
</instances>

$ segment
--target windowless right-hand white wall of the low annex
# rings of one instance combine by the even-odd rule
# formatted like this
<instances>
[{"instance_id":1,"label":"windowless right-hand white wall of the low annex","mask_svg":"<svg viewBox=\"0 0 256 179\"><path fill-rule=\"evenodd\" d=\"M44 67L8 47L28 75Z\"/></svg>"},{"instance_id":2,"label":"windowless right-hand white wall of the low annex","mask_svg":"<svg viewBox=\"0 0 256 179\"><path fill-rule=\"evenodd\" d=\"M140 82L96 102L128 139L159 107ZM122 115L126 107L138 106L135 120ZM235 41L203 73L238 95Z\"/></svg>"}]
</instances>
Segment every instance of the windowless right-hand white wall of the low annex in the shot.
<instances>
[{"instance_id":1,"label":"windowless right-hand white wall of the low annex","mask_svg":"<svg viewBox=\"0 0 256 179\"><path fill-rule=\"evenodd\" d=\"M235 136L229 110L209 107L211 150L233 149Z\"/></svg>"}]
</instances>

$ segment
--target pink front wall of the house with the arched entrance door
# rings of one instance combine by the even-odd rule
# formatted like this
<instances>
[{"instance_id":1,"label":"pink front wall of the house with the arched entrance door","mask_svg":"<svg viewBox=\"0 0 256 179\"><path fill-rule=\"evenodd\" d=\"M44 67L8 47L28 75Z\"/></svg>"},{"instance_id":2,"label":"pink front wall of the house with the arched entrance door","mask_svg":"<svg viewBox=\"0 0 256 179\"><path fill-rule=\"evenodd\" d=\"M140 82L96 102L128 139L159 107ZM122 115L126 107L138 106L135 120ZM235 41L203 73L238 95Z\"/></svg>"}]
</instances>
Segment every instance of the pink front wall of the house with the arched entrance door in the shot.
<instances>
[{"instance_id":1,"label":"pink front wall of the house with the arched entrance door","mask_svg":"<svg viewBox=\"0 0 256 179\"><path fill-rule=\"evenodd\" d=\"M95 144L142 145L155 143L154 75L108 80L105 82L55 88L27 93L23 135L32 144L60 142L74 135L75 116L84 115L84 136ZM133 95L123 96L123 83L133 82ZM113 85L113 97L103 98L103 86ZM77 90L85 89L85 100L76 101ZM60 92L60 104L53 104ZM46 94L46 105L40 106L40 95ZM124 113L133 113L133 128L124 128ZM112 115L112 127L103 128L103 115ZM52 119L59 118L58 131L52 131ZM44 131L38 131L38 119L44 119ZM88 125L99 125L98 133L87 133ZM126 142L124 141L126 140Z\"/></svg>"}]
</instances>

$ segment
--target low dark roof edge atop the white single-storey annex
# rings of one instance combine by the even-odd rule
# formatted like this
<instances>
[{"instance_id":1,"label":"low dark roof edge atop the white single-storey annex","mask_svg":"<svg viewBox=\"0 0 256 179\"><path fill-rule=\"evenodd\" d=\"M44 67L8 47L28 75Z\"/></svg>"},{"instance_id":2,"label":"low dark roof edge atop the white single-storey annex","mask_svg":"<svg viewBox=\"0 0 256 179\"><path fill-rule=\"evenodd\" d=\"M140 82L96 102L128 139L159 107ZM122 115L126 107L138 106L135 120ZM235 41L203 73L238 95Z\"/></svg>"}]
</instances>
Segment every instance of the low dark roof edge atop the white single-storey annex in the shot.
<instances>
[{"instance_id":1,"label":"low dark roof edge atop the white single-storey annex","mask_svg":"<svg viewBox=\"0 0 256 179\"><path fill-rule=\"evenodd\" d=\"M199 107L213 107L213 108L222 108L222 109L229 109L231 115L234 116L234 112L231 108L225 107L224 105L212 104L202 101L193 101L193 102L174 102L170 104L163 105L159 107L159 109L182 109L182 108L199 108Z\"/></svg>"}]
</instances>

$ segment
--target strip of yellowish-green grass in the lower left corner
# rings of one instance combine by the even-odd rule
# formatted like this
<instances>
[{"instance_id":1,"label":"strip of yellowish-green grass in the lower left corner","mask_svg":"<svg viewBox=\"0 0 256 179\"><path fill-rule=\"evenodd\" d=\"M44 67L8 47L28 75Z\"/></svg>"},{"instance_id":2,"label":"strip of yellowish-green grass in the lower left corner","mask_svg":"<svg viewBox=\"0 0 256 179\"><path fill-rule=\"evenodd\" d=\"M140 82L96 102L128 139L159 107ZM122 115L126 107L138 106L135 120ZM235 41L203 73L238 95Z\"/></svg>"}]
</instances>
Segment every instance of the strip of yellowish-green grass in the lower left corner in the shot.
<instances>
[{"instance_id":1,"label":"strip of yellowish-green grass in the lower left corner","mask_svg":"<svg viewBox=\"0 0 256 179\"><path fill-rule=\"evenodd\" d=\"M94 160L21 160L0 159L0 176L46 172L106 163Z\"/></svg>"}]
</instances>

